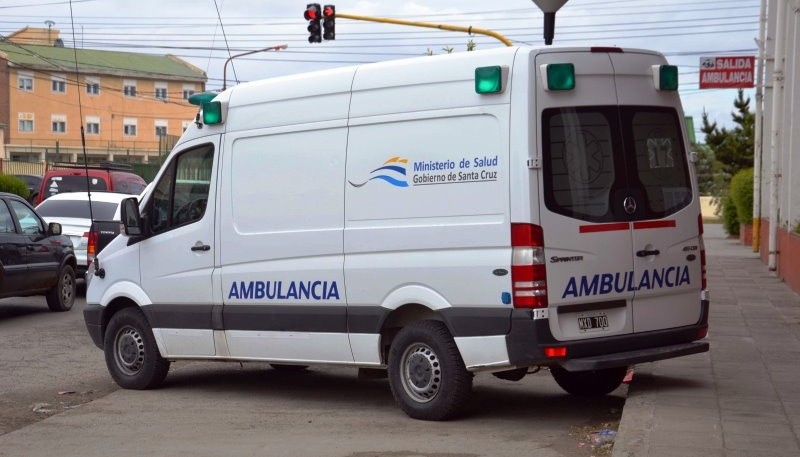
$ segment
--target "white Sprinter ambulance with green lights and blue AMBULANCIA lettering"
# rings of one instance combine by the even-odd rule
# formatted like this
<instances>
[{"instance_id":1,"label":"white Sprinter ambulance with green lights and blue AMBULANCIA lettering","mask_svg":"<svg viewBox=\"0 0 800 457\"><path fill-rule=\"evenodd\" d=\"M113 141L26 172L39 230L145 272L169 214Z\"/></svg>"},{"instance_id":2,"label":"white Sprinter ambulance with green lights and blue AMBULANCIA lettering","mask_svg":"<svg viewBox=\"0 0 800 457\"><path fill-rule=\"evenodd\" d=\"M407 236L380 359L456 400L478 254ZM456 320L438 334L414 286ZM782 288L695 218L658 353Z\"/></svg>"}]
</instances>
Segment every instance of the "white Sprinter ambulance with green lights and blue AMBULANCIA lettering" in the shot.
<instances>
[{"instance_id":1,"label":"white Sprinter ambulance with green lights and blue AMBULANCIA lettering","mask_svg":"<svg viewBox=\"0 0 800 457\"><path fill-rule=\"evenodd\" d=\"M652 51L513 47L212 94L90 268L89 333L132 389L194 359L388 370L428 420L479 372L609 393L708 350L677 87Z\"/></svg>"}]
</instances>

